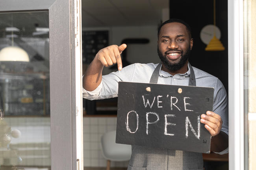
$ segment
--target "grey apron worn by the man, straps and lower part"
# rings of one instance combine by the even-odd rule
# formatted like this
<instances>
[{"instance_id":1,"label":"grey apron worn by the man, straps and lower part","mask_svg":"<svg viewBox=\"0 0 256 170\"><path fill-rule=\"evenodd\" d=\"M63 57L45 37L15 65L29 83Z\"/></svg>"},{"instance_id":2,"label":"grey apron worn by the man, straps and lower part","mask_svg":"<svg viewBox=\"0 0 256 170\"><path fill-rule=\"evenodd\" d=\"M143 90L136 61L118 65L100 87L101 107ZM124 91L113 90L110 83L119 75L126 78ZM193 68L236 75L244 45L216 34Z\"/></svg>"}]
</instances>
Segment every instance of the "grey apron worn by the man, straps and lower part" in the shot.
<instances>
[{"instance_id":1,"label":"grey apron worn by the man, straps and lower part","mask_svg":"<svg viewBox=\"0 0 256 170\"><path fill-rule=\"evenodd\" d=\"M189 86L196 86L195 73L190 64ZM154 69L150 83L158 82L161 64ZM203 170L201 153L132 145L128 170Z\"/></svg>"}]
</instances>

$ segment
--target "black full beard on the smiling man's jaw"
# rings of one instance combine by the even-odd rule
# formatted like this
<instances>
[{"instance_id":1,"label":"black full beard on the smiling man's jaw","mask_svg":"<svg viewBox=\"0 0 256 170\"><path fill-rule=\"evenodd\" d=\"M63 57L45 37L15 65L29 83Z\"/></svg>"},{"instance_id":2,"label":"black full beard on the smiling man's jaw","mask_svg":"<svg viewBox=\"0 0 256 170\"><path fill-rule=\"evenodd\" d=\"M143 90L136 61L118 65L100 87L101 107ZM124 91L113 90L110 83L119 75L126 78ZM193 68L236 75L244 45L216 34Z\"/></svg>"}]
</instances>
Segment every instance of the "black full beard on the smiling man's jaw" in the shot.
<instances>
[{"instance_id":1,"label":"black full beard on the smiling man's jaw","mask_svg":"<svg viewBox=\"0 0 256 170\"><path fill-rule=\"evenodd\" d=\"M177 50L175 50L175 51L177 51ZM159 51L159 48L157 47L157 53L158 53L158 56L159 56L160 60L162 61L165 68L167 68L170 71L177 71L177 70L181 69L184 66L184 64L187 62L187 60L190 56L190 51L191 51L190 46L187 49L185 54L183 54L183 51L181 51L180 61L178 63L173 64L173 63L169 62L169 60L166 57L166 54L163 55Z\"/></svg>"}]
</instances>

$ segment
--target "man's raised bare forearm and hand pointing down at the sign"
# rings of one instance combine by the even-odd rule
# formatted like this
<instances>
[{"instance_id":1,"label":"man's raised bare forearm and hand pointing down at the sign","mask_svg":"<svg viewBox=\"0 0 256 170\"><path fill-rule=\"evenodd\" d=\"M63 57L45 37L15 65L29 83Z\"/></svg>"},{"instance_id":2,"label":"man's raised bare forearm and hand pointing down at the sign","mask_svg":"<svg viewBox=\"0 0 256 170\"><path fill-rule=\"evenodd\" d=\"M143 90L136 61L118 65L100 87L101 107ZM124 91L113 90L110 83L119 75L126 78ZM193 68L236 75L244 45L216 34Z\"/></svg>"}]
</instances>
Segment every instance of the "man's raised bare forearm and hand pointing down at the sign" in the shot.
<instances>
[{"instance_id":1,"label":"man's raised bare forearm and hand pointing down at the sign","mask_svg":"<svg viewBox=\"0 0 256 170\"><path fill-rule=\"evenodd\" d=\"M118 69L122 69L120 54L126 48L126 44L121 46L112 45L101 49L85 71L83 76L83 88L87 91L95 90L102 80L102 69L104 66L111 66L117 63Z\"/></svg>"}]
</instances>

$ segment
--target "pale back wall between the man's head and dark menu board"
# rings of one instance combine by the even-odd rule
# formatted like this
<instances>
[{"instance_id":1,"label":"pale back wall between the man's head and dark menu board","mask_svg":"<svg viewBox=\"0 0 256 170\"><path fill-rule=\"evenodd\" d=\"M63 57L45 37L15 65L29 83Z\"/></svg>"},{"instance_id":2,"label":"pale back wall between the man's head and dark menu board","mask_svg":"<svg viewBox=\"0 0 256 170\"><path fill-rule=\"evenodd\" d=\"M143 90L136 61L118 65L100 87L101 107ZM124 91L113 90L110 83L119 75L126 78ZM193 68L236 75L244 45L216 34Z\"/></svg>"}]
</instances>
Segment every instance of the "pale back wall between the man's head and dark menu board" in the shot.
<instances>
[{"instance_id":1,"label":"pale back wall between the man's head and dark menu board","mask_svg":"<svg viewBox=\"0 0 256 170\"><path fill-rule=\"evenodd\" d=\"M125 38L148 38L148 44L128 44L127 60L130 63L159 63L157 54L158 26L115 26L115 27L88 27L83 31L108 30L109 45L121 45ZM103 74L113 70L104 69Z\"/></svg>"}]
</instances>

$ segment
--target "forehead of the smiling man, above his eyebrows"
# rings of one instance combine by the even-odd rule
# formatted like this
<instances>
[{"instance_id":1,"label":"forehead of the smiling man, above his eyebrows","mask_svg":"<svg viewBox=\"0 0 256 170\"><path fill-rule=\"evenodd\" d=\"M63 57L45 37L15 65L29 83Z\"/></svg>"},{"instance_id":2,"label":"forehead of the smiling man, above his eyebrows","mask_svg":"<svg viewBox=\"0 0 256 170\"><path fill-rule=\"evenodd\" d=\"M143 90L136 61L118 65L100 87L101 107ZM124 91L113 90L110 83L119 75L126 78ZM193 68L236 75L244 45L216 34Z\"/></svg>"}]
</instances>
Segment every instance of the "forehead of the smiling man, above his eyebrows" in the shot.
<instances>
[{"instance_id":1,"label":"forehead of the smiling man, above his eyebrows","mask_svg":"<svg viewBox=\"0 0 256 170\"><path fill-rule=\"evenodd\" d=\"M171 22L163 25L161 27L159 37L163 35L167 35L167 36L186 35L186 37L189 37L187 27L184 24L181 24L179 22Z\"/></svg>"}]
</instances>

